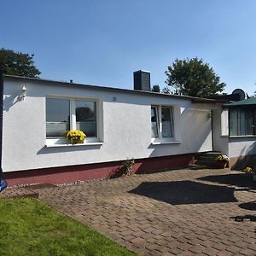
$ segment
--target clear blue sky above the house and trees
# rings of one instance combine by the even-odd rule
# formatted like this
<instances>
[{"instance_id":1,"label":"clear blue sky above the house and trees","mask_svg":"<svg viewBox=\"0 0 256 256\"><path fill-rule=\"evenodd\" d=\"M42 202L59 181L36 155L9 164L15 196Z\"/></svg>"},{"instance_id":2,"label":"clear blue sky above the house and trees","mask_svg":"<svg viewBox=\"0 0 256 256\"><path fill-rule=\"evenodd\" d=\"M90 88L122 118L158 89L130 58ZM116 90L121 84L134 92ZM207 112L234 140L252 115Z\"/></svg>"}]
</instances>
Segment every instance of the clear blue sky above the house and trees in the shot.
<instances>
[{"instance_id":1,"label":"clear blue sky above the house and trees","mask_svg":"<svg viewBox=\"0 0 256 256\"><path fill-rule=\"evenodd\" d=\"M255 0L0 0L0 48L34 54L40 78L165 87L176 59L207 62L225 92L256 90Z\"/></svg>"}]
</instances>

